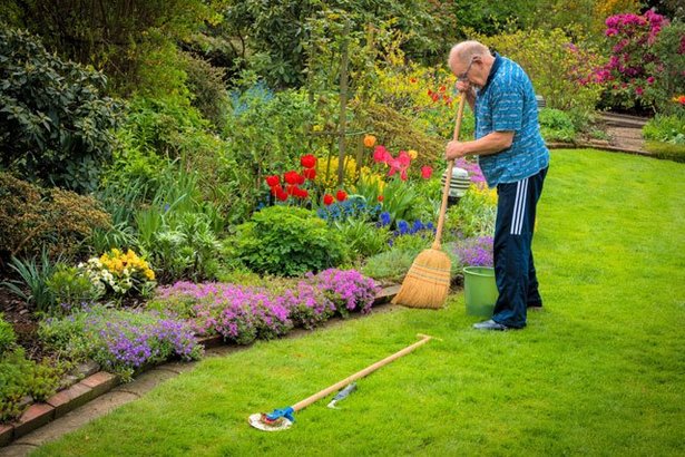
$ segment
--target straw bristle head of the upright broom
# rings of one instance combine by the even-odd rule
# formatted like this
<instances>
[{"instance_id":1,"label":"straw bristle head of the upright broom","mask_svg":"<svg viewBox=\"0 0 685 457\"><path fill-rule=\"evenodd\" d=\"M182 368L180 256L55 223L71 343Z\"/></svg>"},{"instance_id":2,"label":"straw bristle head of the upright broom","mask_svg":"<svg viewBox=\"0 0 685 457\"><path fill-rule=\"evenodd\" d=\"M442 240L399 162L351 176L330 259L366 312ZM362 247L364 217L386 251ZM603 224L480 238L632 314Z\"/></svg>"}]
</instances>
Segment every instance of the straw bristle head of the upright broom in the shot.
<instances>
[{"instance_id":1,"label":"straw bristle head of the upright broom","mask_svg":"<svg viewBox=\"0 0 685 457\"><path fill-rule=\"evenodd\" d=\"M442 308L450 292L450 257L431 247L421 252L409 269L394 304L409 308Z\"/></svg>"}]
</instances>

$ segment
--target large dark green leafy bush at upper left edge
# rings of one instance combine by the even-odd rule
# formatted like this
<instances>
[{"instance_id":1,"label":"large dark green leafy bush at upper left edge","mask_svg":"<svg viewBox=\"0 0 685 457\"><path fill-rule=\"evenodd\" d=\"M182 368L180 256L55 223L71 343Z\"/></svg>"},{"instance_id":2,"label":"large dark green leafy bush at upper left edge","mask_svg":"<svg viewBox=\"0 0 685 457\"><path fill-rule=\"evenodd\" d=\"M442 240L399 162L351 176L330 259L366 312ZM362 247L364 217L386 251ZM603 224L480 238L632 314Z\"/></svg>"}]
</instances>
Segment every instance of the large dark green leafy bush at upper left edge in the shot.
<instances>
[{"instance_id":1,"label":"large dark green leafy bush at upper left edge","mask_svg":"<svg viewBox=\"0 0 685 457\"><path fill-rule=\"evenodd\" d=\"M27 32L0 27L0 165L85 192L110 156L120 106L102 74L65 62Z\"/></svg>"}]
</instances>

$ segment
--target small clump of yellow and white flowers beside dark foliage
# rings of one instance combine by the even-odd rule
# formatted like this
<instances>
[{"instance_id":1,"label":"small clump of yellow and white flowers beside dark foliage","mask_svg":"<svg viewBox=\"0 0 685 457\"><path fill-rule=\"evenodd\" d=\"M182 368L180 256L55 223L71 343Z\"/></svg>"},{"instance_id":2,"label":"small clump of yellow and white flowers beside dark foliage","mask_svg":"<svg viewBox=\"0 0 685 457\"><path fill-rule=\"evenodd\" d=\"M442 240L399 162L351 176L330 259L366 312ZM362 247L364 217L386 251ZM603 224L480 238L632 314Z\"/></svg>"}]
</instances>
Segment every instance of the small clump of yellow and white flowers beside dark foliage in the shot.
<instances>
[{"instance_id":1,"label":"small clump of yellow and white flowers beside dark foliage","mask_svg":"<svg viewBox=\"0 0 685 457\"><path fill-rule=\"evenodd\" d=\"M155 272L134 251L126 253L112 249L100 257L90 257L79 263L100 295L114 292L123 296L134 291L146 294L155 286Z\"/></svg>"}]
</instances>

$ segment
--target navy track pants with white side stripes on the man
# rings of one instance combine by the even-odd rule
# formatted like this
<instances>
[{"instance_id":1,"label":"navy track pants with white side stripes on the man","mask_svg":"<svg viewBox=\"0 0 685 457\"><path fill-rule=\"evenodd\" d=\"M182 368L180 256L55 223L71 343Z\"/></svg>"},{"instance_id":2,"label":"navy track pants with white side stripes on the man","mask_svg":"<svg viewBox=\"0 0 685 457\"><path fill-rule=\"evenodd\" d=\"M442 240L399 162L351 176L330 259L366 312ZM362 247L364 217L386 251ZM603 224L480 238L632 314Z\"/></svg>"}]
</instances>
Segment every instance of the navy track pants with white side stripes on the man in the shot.
<instances>
[{"instance_id":1,"label":"navy track pants with white side stripes on the man","mask_svg":"<svg viewBox=\"0 0 685 457\"><path fill-rule=\"evenodd\" d=\"M493 259L499 296L492 320L517 329L526 327L528 307L542 305L530 245L547 169L497 186Z\"/></svg>"}]
</instances>

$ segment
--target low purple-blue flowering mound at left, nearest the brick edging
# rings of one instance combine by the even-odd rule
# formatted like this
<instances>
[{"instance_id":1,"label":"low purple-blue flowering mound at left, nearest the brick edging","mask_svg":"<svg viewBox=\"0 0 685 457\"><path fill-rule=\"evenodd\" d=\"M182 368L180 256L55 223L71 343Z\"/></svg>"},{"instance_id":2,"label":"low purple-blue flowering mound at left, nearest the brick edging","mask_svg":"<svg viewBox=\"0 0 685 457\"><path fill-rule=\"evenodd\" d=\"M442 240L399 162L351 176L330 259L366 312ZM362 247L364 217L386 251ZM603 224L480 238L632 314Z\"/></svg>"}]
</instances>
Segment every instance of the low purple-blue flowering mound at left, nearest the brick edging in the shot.
<instances>
[{"instance_id":1,"label":"low purple-blue flowering mound at left, nearest the brick edging","mask_svg":"<svg viewBox=\"0 0 685 457\"><path fill-rule=\"evenodd\" d=\"M144 364L170 357L197 359L202 354L202 347L185 322L157 312L95 305L43 321L39 334L59 353L77 360L90 358L125 380Z\"/></svg>"}]
</instances>

